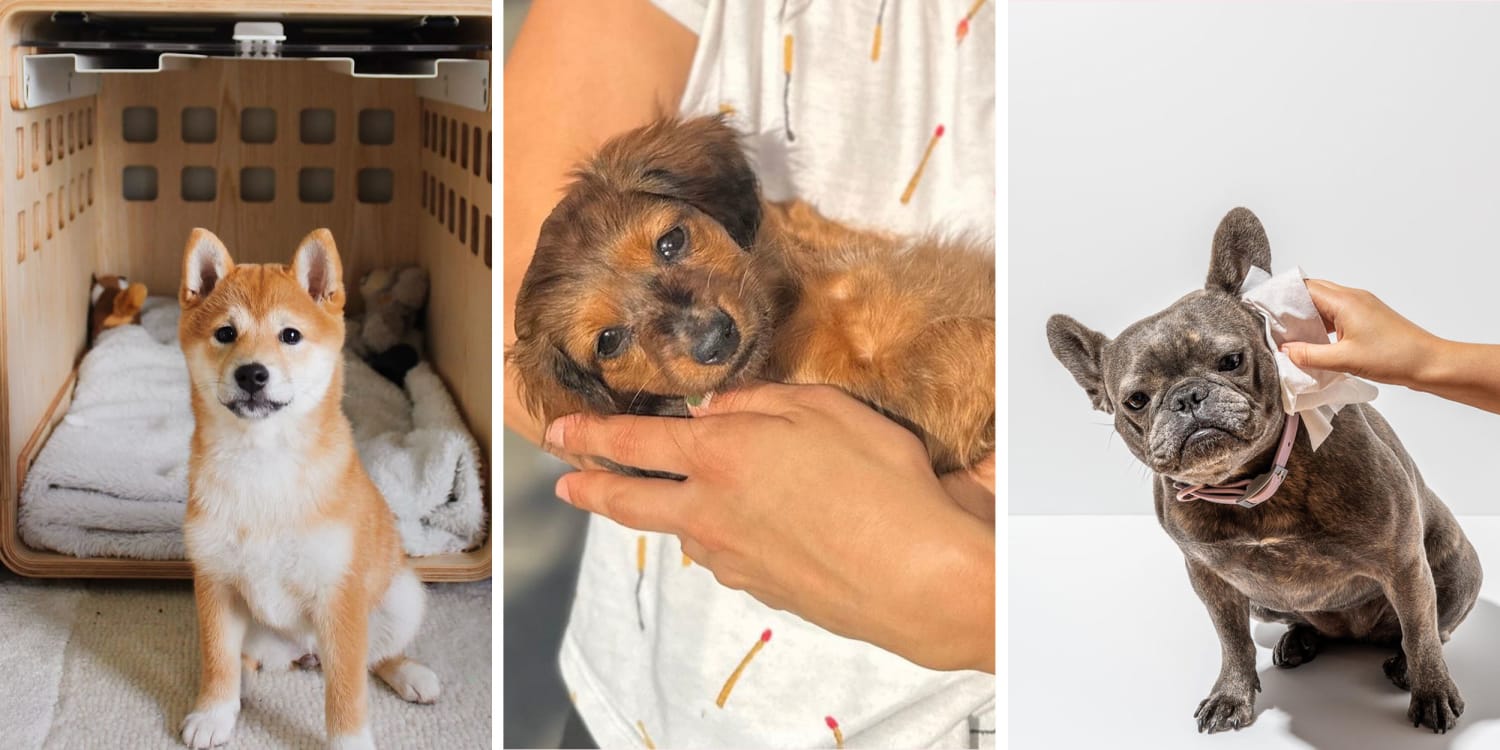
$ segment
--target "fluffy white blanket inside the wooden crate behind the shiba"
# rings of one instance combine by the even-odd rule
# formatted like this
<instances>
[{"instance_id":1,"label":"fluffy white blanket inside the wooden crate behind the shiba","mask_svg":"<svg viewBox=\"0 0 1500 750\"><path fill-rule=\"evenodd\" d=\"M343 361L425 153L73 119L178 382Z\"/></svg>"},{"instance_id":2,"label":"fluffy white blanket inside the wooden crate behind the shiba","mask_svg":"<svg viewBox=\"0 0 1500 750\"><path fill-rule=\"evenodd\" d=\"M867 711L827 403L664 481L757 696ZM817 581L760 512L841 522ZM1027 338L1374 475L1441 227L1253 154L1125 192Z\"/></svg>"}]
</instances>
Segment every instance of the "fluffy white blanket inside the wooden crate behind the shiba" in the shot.
<instances>
[{"instance_id":1,"label":"fluffy white blanket inside the wooden crate behind the shiba","mask_svg":"<svg viewBox=\"0 0 1500 750\"><path fill-rule=\"evenodd\" d=\"M26 476L21 538L75 556L182 560L194 417L178 308L152 297L141 326L104 332L68 416ZM411 555L484 540L480 454L428 363L402 390L345 356L344 411Z\"/></svg>"}]
</instances>

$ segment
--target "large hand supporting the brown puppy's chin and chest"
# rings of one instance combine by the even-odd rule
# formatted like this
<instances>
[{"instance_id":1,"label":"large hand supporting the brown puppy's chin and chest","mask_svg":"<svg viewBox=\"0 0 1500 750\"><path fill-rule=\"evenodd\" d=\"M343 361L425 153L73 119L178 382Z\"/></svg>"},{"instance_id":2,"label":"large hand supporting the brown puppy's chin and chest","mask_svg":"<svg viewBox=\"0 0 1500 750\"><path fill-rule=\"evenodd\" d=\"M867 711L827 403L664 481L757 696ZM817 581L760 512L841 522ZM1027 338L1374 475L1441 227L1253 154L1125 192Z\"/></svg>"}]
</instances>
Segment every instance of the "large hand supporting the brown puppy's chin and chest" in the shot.
<instances>
[{"instance_id":1,"label":"large hand supporting the brown puppy's chin and chest","mask_svg":"<svg viewBox=\"0 0 1500 750\"><path fill-rule=\"evenodd\" d=\"M994 528L944 490L915 435L828 386L752 386L694 414L554 422L555 450L687 477L586 470L558 496L675 534L720 584L834 633L994 670Z\"/></svg>"}]
</instances>

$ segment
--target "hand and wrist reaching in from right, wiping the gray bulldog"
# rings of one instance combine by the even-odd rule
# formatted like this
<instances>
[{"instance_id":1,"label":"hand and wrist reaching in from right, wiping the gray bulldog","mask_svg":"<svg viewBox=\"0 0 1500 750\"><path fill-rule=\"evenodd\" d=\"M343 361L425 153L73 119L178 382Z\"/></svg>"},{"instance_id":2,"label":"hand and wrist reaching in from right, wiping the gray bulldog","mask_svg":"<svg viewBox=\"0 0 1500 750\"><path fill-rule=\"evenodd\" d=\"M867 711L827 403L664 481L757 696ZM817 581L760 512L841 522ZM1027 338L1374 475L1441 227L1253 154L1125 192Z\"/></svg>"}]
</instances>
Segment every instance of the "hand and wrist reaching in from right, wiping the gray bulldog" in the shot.
<instances>
[{"instance_id":1,"label":"hand and wrist reaching in from right, wiping the gray bulldog","mask_svg":"<svg viewBox=\"0 0 1500 750\"><path fill-rule=\"evenodd\" d=\"M1434 336L1365 290L1322 279L1306 285L1338 340L1282 345L1293 364L1406 386L1500 414L1500 346Z\"/></svg>"}]
</instances>

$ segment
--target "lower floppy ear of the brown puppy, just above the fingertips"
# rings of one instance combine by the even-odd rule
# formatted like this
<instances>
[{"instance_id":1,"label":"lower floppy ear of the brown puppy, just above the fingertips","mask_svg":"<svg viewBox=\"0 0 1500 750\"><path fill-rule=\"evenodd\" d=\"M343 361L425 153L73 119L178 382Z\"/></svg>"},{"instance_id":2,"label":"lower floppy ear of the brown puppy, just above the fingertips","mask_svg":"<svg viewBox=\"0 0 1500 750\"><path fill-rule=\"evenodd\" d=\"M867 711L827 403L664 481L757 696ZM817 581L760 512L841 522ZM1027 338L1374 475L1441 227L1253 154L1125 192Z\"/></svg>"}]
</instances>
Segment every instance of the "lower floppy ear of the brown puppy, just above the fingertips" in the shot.
<instances>
[{"instance_id":1,"label":"lower floppy ear of the brown puppy, just above the fingertips","mask_svg":"<svg viewBox=\"0 0 1500 750\"><path fill-rule=\"evenodd\" d=\"M520 402L543 426L564 414L616 411L604 380L549 340L534 336L516 339L506 358L516 369Z\"/></svg>"}]
</instances>

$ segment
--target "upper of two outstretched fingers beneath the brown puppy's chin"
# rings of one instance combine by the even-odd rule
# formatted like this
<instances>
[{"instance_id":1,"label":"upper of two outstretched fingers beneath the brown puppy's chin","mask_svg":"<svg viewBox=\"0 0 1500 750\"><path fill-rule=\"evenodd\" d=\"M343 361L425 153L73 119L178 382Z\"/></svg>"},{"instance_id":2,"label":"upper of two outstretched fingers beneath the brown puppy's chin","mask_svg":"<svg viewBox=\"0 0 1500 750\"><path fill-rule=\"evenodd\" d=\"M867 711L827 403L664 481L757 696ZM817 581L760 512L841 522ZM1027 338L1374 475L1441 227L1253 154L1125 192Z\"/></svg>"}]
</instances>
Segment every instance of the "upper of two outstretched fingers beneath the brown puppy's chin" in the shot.
<instances>
[{"instance_id":1,"label":"upper of two outstretched fingers beneath the brown puppy's chin","mask_svg":"<svg viewBox=\"0 0 1500 750\"><path fill-rule=\"evenodd\" d=\"M694 430L700 424L674 417L596 417L570 414L548 426L546 446L556 454L598 456L626 466L690 474Z\"/></svg>"}]
</instances>

